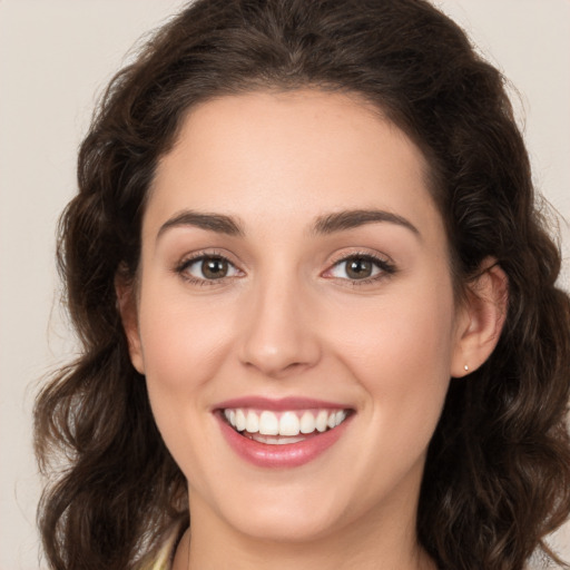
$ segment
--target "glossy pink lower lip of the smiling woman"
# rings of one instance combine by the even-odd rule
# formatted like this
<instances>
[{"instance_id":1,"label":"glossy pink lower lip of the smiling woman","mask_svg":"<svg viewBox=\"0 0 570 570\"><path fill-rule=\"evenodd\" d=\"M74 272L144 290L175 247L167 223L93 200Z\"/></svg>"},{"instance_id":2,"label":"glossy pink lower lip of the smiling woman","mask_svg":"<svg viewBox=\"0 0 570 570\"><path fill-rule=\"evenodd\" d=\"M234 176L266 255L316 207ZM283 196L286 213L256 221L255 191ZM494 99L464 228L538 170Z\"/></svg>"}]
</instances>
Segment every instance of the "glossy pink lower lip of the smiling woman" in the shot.
<instances>
[{"instance_id":1,"label":"glossy pink lower lip of the smiling woman","mask_svg":"<svg viewBox=\"0 0 570 570\"><path fill-rule=\"evenodd\" d=\"M313 461L338 441L352 419L348 416L333 430L312 435L297 443L271 445L245 438L230 428L220 414L218 421L229 446L242 458L261 468L286 469L297 468Z\"/></svg>"}]
</instances>

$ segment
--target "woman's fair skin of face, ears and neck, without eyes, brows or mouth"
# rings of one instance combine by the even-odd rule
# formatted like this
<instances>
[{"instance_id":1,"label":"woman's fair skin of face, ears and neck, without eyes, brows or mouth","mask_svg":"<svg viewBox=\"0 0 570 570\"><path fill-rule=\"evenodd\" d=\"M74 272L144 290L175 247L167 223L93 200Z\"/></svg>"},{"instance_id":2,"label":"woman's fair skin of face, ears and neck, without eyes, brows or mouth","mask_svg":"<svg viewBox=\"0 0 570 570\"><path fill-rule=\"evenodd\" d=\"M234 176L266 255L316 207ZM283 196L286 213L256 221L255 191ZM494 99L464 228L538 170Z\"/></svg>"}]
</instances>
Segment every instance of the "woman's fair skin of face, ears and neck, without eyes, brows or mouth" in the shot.
<instances>
[{"instance_id":1,"label":"woman's fair skin of face, ears and neck, without eyes, brows or mouth","mask_svg":"<svg viewBox=\"0 0 570 570\"><path fill-rule=\"evenodd\" d=\"M132 363L188 480L191 547L186 533L175 569L433 568L415 538L426 448L450 377L494 347L505 278L490 269L458 306L428 168L357 97L253 92L186 116L151 188L136 291L118 287ZM400 222L315 230L363 209ZM230 216L240 234L173 224L187 210ZM178 271L204 253L227 257L229 276ZM394 272L358 283L340 262L351 255ZM264 469L212 413L249 395L355 413L317 459Z\"/></svg>"}]
</instances>

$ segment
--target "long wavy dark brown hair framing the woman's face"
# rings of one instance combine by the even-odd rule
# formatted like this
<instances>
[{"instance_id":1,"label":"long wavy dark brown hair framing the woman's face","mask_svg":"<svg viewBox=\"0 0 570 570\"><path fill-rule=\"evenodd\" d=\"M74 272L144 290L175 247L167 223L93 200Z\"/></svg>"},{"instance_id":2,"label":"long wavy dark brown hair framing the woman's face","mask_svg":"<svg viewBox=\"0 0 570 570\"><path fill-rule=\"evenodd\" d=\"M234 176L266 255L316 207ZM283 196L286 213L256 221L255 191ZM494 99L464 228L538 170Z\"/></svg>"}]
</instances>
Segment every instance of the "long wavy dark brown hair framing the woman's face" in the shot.
<instances>
[{"instance_id":1,"label":"long wavy dark brown hair framing the woman's face","mask_svg":"<svg viewBox=\"0 0 570 570\"><path fill-rule=\"evenodd\" d=\"M82 344L36 404L53 471L39 508L51 568L136 569L188 523L186 481L131 365L115 281L132 278L157 163L191 106L256 89L356 92L422 149L458 295L483 259L509 279L505 326L452 380L431 441L417 537L440 569L520 570L570 513L570 299L556 281L529 158L501 73L425 0L198 0L108 87L59 226ZM558 560L561 563L560 560Z\"/></svg>"}]
</instances>

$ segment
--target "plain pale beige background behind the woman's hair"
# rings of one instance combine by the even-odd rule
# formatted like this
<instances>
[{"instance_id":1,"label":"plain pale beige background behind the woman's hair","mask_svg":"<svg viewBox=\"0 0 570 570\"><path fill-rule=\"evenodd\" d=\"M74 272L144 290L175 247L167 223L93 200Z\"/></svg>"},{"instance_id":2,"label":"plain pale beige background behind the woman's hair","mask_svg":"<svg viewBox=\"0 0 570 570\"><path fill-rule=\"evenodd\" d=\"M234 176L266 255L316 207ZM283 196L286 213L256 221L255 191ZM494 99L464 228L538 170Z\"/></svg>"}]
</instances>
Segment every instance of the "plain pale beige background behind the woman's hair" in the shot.
<instances>
[{"instance_id":1,"label":"plain pale beige background behind the woman's hair","mask_svg":"<svg viewBox=\"0 0 570 570\"><path fill-rule=\"evenodd\" d=\"M30 410L72 353L53 233L96 94L180 0L0 0L0 570L41 567ZM570 219L570 1L440 0L513 81L539 188ZM562 227L569 287L570 236ZM570 558L570 525L556 539Z\"/></svg>"}]
</instances>

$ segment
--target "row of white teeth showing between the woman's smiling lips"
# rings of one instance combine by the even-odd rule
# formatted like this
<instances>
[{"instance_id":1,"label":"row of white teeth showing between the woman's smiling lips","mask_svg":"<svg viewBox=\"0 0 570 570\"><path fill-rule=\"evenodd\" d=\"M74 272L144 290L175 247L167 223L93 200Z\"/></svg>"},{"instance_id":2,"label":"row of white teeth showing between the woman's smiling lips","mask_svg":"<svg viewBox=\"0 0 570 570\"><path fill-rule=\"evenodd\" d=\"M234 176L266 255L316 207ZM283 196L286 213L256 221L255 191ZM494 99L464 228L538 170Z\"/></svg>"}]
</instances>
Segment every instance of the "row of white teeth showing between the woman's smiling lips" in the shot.
<instances>
[{"instance_id":1,"label":"row of white teeth showing between the woman's smiling lips","mask_svg":"<svg viewBox=\"0 0 570 570\"><path fill-rule=\"evenodd\" d=\"M299 434L333 430L346 420L346 410L305 410L303 413L301 411L275 413L264 410L259 413L247 409L224 410L224 416L238 432L245 431L256 441L275 444L295 443L305 439L296 438ZM283 435L284 439L275 438L276 435Z\"/></svg>"}]
</instances>

